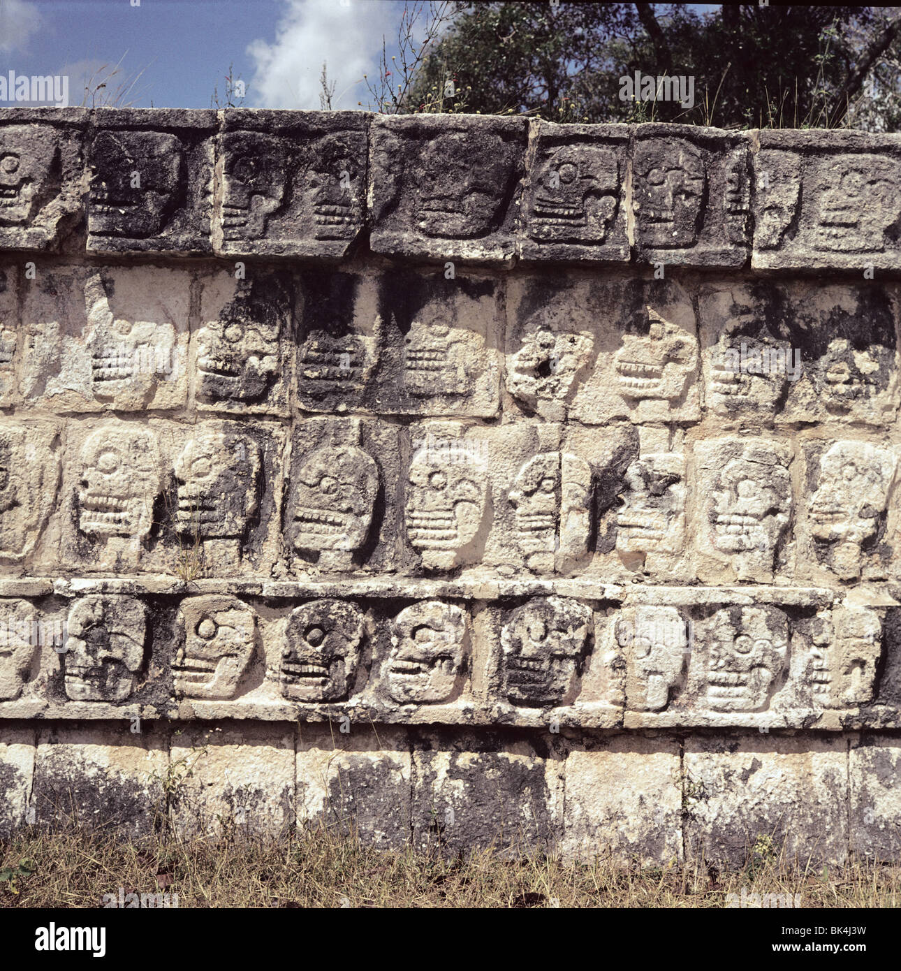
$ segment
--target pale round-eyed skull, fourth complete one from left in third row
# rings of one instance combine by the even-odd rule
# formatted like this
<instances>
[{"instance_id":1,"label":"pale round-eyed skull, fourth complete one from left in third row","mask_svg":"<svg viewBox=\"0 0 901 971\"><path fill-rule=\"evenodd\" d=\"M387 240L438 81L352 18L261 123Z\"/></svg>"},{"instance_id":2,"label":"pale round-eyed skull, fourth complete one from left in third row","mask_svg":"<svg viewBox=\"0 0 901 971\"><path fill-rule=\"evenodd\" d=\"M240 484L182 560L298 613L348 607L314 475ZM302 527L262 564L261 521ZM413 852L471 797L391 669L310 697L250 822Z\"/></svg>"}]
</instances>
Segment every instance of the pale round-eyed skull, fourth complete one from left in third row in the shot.
<instances>
[{"instance_id":1,"label":"pale round-eyed skull, fourth complete one from left in third row","mask_svg":"<svg viewBox=\"0 0 901 971\"><path fill-rule=\"evenodd\" d=\"M410 464L407 536L426 569L450 569L482 527L488 483L484 468L444 449L420 448Z\"/></svg>"}]
</instances>

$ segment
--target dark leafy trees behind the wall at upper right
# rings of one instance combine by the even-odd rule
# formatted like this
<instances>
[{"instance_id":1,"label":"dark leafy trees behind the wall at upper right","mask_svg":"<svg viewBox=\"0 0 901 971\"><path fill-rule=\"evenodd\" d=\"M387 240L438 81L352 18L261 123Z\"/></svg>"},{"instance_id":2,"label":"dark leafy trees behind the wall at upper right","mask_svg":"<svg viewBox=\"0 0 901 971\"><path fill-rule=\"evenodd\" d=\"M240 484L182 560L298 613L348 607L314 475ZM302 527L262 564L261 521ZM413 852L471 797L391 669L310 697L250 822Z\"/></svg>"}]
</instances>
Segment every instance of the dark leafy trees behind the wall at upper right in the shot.
<instances>
[{"instance_id":1,"label":"dark leafy trees behind the wall at upper right","mask_svg":"<svg viewBox=\"0 0 901 971\"><path fill-rule=\"evenodd\" d=\"M895 11L869 7L741 4L701 14L686 4L457 0L400 110L444 99L445 110L553 120L878 127L899 114L899 35ZM694 105L621 100L620 78L636 71L693 78ZM874 73L884 100L860 110Z\"/></svg>"}]
</instances>

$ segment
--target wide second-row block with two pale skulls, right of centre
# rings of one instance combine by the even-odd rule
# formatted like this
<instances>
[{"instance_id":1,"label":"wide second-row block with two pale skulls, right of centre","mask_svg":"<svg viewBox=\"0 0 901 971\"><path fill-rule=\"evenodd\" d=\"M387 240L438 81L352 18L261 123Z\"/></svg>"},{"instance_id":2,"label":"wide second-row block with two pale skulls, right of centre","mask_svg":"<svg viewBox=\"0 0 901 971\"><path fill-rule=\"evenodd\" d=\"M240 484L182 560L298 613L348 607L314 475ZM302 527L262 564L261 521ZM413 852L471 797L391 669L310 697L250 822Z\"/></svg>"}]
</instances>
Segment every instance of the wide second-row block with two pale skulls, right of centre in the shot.
<instances>
[{"instance_id":1,"label":"wide second-row block with two pale skulls, right of centre","mask_svg":"<svg viewBox=\"0 0 901 971\"><path fill-rule=\"evenodd\" d=\"M586 424L700 418L697 324L682 286L535 278L509 290L507 390L526 412Z\"/></svg>"}]
</instances>

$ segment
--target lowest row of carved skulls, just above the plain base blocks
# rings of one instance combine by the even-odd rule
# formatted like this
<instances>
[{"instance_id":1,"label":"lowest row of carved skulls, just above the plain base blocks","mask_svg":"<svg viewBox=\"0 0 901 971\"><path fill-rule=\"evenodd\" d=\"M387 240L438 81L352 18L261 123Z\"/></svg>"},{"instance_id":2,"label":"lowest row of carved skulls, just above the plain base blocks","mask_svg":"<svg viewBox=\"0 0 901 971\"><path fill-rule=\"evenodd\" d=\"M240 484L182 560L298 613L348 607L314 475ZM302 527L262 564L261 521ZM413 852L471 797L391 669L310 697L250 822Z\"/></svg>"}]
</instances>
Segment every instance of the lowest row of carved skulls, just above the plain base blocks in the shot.
<instances>
[{"instance_id":1,"label":"lowest row of carved skulls, just above the plain base blocks","mask_svg":"<svg viewBox=\"0 0 901 971\"><path fill-rule=\"evenodd\" d=\"M0 698L17 697L40 640L36 615L23 600L3 604ZM93 594L72 606L57 650L65 654L65 691L76 701L123 701L138 684L145 661L148 609L125 595ZM199 700L239 693L258 651L257 617L230 595L186 598L177 624L180 647L172 661L176 694ZM683 679L693 650L693 623L675 607L619 612L613 630L626 658L630 707L659 711ZM593 614L566 597L536 597L507 614L501 630L500 691L512 704L558 706L578 695L593 647ZM282 696L299 702L346 699L354 689L366 622L356 605L314 600L287 619L277 671ZM706 702L714 711L757 711L784 679L788 619L775 607L718 610L703 634ZM469 664L465 611L438 600L404 608L390 623L385 689L399 704L452 700ZM848 707L872 699L882 653L882 624L865 610L818 620L808 647L805 678L812 703Z\"/></svg>"}]
</instances>

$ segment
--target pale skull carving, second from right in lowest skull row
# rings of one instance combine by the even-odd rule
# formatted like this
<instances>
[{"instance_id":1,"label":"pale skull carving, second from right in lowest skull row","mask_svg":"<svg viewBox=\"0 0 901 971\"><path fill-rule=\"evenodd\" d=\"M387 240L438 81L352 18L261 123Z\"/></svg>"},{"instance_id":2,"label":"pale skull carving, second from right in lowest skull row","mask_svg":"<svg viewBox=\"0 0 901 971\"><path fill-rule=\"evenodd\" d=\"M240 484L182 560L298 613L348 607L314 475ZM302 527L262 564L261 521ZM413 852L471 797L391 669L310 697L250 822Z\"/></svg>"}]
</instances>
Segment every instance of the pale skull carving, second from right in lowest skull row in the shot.
<instances>
[{"instance_id":1,"label":"pale skull carving, second from right in lowest skull row","mask_svg":"<svg viewBox=\"0 0 901 971\"><path fill-rule=\"evenodd\" d=\"M775 607L729 607L710 621L707 701L711 708L764 708L788 653L788 620Z\"/></svg>"}]
</instances>

